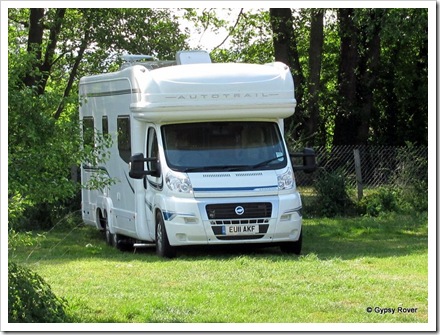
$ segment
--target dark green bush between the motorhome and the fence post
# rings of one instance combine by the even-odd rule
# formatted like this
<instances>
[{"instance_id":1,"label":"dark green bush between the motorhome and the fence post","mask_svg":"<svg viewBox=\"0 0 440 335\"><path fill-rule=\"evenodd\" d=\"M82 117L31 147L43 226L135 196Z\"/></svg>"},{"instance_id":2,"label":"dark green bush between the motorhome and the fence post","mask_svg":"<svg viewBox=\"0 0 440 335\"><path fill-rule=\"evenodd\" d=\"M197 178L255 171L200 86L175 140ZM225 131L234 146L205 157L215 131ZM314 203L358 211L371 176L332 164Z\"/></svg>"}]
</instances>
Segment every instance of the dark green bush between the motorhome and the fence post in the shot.
<instances>
[{"instance_id":1,"label":"dark green bush between the motorhome and the fence post","mask_svg":"<svg viewBox=\"0 0 440 335\"><path fill-rule=\"evenodd\" d=\"M353 208L342 173L321 171L314 187L316 189L314 201L316 214L327 217L346 215Z\"/></svg>"}]
</instances>

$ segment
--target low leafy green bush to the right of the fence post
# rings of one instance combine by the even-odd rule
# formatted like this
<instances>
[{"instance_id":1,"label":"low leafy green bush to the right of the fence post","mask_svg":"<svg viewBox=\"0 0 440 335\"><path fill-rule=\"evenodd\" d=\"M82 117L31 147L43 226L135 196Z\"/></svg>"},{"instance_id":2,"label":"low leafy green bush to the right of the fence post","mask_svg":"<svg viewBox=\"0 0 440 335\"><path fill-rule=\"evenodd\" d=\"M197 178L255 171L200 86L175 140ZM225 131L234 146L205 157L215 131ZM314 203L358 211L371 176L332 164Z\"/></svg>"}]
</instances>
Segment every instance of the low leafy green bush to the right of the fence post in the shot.
<instances>
[{"instance_id":1,"label":"low leafy green bush to the right of the fence post","mask_svg":"<svg viewBox=\"0 0 440 335\"><path fill-rule=\"evenodd\" d=\"M360 214L379 216L380 213L399 209L398 192L391 188L380 187L367 194L358 203Z\"/></svg>"}]
</instances>

